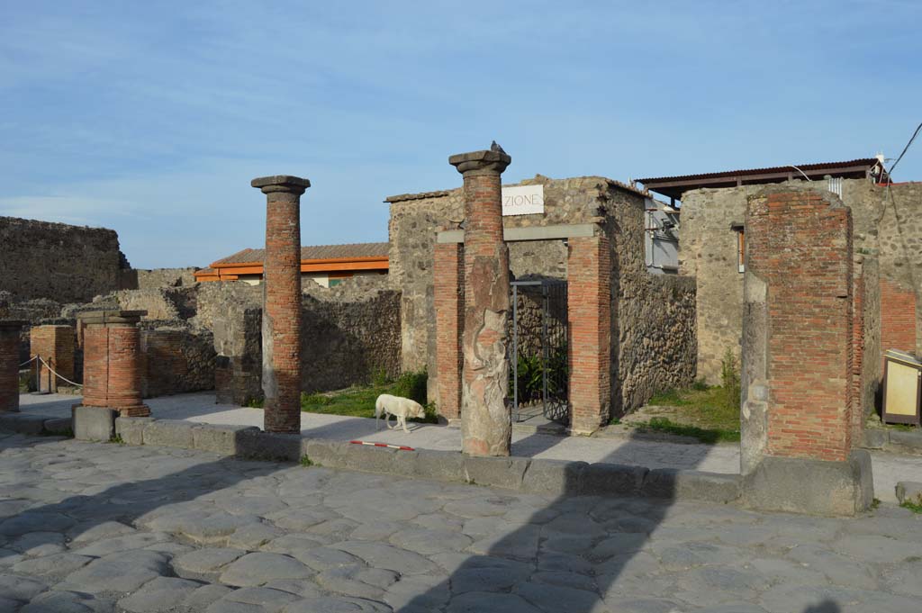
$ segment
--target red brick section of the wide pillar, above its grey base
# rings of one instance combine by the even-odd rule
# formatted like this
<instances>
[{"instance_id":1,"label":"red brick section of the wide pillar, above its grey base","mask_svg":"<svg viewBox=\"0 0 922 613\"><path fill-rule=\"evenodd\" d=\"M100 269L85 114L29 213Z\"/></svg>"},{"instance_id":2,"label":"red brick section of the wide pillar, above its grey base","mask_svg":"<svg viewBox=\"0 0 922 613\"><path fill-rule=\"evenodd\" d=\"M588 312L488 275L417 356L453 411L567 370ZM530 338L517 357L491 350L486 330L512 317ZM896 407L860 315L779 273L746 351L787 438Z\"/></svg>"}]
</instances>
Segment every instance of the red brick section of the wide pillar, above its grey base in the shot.
<instances>
[{"instance_id":1,"label":"red brick section of the wide pillar, above its grey base","mask_svg":"<svg viewBox=\"0 0 922 613\"><path fill-rule=\"evenodd\" d=\"M750 199L747 275L767 286L767 453L844 461L851 448L852 228L838 198Z\"/></svg>"}]
</instances>

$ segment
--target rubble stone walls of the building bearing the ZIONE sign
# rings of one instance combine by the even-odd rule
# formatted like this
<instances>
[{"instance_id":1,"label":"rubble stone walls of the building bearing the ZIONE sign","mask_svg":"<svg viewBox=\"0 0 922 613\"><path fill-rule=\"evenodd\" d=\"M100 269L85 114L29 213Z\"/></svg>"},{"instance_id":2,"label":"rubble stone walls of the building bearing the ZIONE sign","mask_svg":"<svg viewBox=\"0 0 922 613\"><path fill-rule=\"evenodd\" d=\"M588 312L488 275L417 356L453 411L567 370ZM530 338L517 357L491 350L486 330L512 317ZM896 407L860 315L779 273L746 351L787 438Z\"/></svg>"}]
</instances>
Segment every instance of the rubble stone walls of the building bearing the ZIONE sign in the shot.
<instances>
[{"instance_id":1,"label":"rubble stone walls of the building bearing the ZIONE sign","mask_svg":"<svg viewBox=\"0 0 922 613\"><path fill-rule=\"evenodd\" d=\"M658 390L691 383L695 367L693 282L673 276L655 279L646 272L644 197L604 177L551 180L538 175L516 184L535 183L544 185L545 214L505 217L505 228L597 223L611 239L611 287L616 294L611 318L613 409L623 413L641 406ZM463 211L460 189L391 203L388 277L403 292L402 366L404 370L428 366L430 398L436 397L438 383L432 278L435 235L456 230ZM517 279L567 277L564 242L508 245L510 269ZM661 302L665 300L668 302Z\"/></svg>"}]
</instances>

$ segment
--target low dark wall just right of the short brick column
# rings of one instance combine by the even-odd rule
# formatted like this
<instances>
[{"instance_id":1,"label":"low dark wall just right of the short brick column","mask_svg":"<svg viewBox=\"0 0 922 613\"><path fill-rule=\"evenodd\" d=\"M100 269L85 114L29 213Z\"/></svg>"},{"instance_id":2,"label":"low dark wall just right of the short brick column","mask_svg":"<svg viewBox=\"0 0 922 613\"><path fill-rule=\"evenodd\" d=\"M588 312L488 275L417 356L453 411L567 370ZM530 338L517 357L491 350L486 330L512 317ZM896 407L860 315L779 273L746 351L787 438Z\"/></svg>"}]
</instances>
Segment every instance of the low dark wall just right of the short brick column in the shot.
<instances>
[{"instance_id":1,"label":"low dark wall just right of the short brick column","mask_svg":"<svg viewBox=\"0 0 922 613\"><path fill-rule=\"evenodd\" d=\"M141 393L145 398L215 387L215 344L208 330L176 324L143 325L141 354Z\"/></svg>"}]
</instances>

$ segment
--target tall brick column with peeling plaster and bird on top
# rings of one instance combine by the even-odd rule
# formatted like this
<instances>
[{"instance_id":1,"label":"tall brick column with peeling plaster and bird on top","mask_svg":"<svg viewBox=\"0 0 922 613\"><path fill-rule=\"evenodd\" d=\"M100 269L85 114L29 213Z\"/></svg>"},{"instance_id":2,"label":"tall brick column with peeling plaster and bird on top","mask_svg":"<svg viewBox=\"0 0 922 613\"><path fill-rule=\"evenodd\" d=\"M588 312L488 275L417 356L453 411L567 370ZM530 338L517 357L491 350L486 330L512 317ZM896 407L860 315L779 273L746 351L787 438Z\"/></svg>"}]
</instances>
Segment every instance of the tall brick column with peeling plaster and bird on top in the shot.
<instances>
[{"instance_id":1,"label":"tall brick column with peeling plaster and bird on top","mask_svg":"<svg viewBox=\"0 0 922 613\"><path fill-rule=\"evenodd\" d=\"M509 455L512 411L506 403L509 360L509 250L502 240L500 175L512 161L502 151L474 151L448 159L464 176L464 372L462 451Z\"/></svg>"}]
</instances>

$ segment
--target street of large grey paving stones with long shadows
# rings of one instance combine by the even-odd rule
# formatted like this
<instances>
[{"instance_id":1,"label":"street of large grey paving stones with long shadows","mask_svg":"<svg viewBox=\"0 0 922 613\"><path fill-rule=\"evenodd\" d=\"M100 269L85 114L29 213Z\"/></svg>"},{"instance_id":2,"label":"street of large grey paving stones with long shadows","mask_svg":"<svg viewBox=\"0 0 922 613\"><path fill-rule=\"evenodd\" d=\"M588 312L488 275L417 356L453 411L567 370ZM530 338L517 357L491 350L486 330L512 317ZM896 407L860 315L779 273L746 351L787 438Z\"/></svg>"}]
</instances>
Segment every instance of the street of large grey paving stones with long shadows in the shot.
<instances>
[{"instance_id":1,"label":"street of large grey paving stones with long shadows","mask_svg":"<svg viewBox=\"0 0 922 613\"><path fill-rule=\"evenodd\" d=\"M907 612L922 520L549 499L0 435L0 610Z\"/></svg>"}]
</instances>

